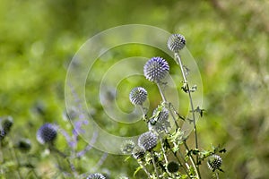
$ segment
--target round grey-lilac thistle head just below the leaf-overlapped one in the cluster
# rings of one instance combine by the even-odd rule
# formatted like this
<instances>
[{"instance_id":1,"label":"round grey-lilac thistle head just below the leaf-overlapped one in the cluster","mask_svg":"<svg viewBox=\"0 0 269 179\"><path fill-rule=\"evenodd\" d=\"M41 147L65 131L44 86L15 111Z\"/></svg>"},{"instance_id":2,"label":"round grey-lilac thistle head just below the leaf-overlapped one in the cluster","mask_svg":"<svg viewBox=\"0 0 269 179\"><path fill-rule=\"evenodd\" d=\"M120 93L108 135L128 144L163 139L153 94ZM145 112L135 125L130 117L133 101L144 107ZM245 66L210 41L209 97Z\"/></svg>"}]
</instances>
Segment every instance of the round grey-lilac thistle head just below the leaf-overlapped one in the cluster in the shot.
<instances>
[{"instance_id":1,"label":"round grey-lilac thistle head just below the leaf-overlapped one in the cluster","mask_svg":"<svg viewBox=\"0 0 269 179\"><path fill-rule=\"evenodd\" d=\"M144 132L138 138L138 145L144 150L152 150L156 147L158 141L158 137L153 132Z\"/></svg>"}]
</instances>

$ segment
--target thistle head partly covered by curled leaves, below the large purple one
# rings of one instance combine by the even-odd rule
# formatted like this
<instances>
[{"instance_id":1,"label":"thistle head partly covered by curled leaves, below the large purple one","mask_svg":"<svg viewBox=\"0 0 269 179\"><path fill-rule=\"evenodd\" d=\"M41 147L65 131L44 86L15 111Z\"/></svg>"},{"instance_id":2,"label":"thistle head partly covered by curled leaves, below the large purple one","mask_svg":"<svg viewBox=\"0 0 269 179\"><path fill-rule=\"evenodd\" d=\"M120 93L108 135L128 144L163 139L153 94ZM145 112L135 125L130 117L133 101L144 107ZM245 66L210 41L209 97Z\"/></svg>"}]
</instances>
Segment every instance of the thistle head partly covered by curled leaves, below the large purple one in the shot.
<instances>
[{"instance_id":1,"label":"thistle head partly covered by curled leaves, below the large purple one","mask_svg":"<svg viewBox=\"0 0 269 179\"><path fill-rule=\"evenodd\" d=\"M153 118L148 124L149 130L157 133L169 132L169 110L165 107L156 108L153 111Z\"/></svg>"}]
</instances>

